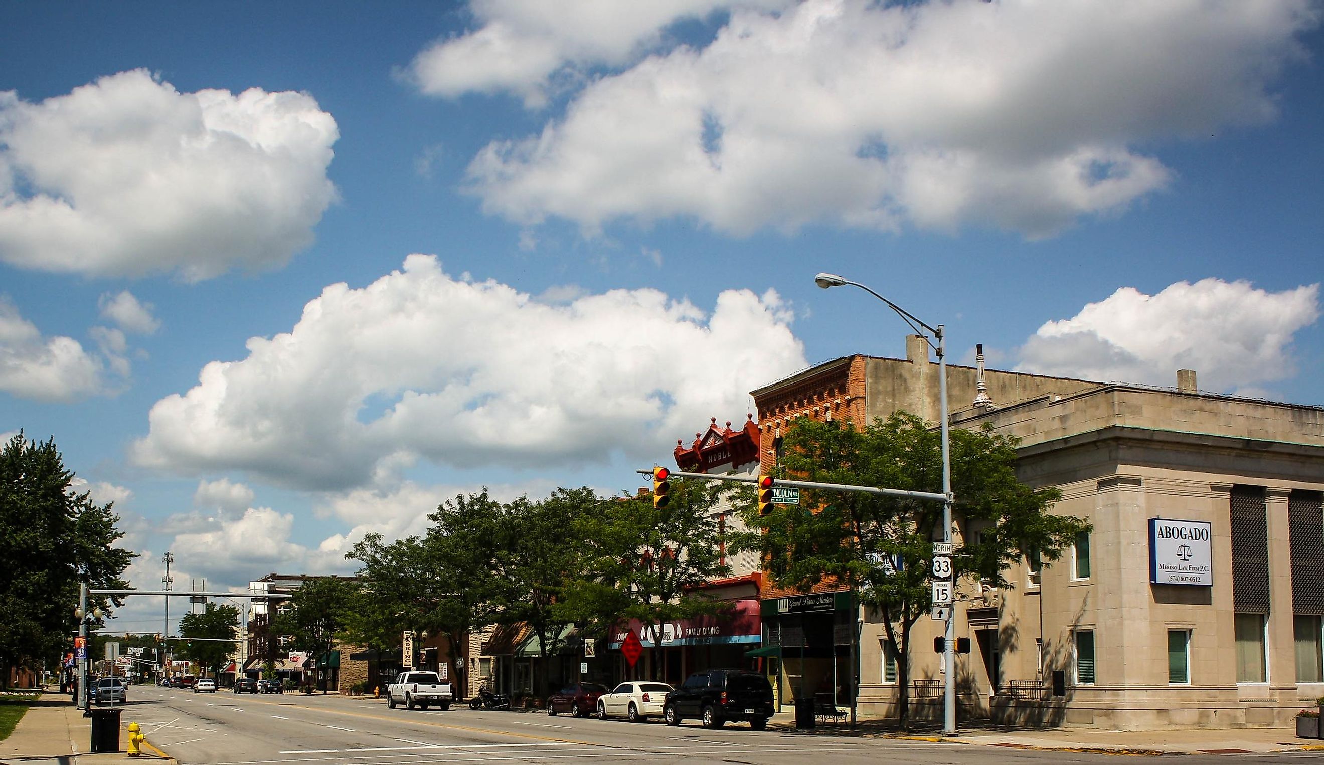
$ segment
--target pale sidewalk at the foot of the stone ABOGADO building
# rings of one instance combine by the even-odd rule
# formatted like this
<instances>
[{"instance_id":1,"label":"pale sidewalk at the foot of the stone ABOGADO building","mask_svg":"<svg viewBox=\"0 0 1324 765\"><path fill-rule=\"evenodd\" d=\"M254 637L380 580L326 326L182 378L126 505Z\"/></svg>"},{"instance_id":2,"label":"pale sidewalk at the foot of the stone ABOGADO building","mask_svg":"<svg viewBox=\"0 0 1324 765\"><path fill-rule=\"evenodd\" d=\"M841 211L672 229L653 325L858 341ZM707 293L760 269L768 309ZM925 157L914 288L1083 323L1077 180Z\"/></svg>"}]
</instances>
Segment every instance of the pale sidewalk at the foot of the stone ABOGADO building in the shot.
<instances>
[{"instance_id":1,"label":"pale sidewalk at the foot of the stone ABOGADO building","mask_svg":"<svg viewBox=\"0 0 1324 765\"><path fill-rule=\"evenodd\" d=\"M769 728L796 731L793 712L779 712ZM861 720L853 731L849 723L818 723L809 736L863 736L869 739L910 739L947 741L1008 749L1084 750L1117 754L1251 754L1271 752L1324 750L1324 741L1298 739L1291 728L1233 728L1194 731L1096 731L1094 728L1009 728L985 720L963 721L956 736L943 736L941 727L915 725L899 733L879 720Z\"/></svg>"}]
</instances>

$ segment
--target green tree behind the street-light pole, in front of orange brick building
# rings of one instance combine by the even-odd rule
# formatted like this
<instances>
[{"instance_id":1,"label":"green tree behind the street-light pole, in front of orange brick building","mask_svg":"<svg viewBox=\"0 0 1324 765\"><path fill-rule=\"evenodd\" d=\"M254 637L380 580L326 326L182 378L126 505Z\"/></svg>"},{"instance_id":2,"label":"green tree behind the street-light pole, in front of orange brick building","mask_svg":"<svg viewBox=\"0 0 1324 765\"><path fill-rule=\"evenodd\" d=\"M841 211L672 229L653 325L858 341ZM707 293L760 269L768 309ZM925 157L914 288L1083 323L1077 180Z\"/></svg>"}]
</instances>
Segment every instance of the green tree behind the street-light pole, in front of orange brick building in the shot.
<instances>
[{"instance_id":1,"label":"green tree behind the street-light pole, in front of orange brick building","mask_svg":"<svg viewBox=\"0 0 1324 765\"><path fill-rule=\"evenodd\" d=\"M1010 566L1037 552L1054 561L1084 520L1054 515L1057 488L1034 490L1016 476L1013 437L990 430L951 433L953 524L960 529L952 564L956 588L980 582L1009 588ZM936 428L899 412L863 430L849 421L798 420L782 443L785 476L822 483L941 491L941 445ZM910 717L911 630L932 606L929 566L943 537L943 506L932 500L843 491L804 491L802 506L755 502L741 511L749 532L733 549L757 551L779 586L808 592L833 578L882 614L898 652L898 713ZM804 510L816 508L813 511ZM955 539L955 537L953 537Z\"/></svg>"}]
</instances>

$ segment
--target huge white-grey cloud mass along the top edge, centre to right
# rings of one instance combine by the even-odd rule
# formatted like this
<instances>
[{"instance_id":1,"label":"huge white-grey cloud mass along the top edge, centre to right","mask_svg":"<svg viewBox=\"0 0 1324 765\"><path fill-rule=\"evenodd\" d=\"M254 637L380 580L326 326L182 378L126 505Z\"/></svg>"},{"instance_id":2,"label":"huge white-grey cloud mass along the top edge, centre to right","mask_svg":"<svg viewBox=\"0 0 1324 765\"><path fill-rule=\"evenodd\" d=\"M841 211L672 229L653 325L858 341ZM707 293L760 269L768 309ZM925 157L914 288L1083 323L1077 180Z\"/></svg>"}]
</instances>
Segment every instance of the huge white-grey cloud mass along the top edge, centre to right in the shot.
<instances>
[{"instance_id":1,"label":"huge white-grey cloud mass along the top edge, centre to right","mask_svg":"<svg viewBox=\"0 0 1324 765\"><path fill-rule=\"evenodd\" d=\"M548 21L560 4L481 4L490 22L416 71L442 61L446 77L420 81L454 93L519 89L576 56L629 61L585 78L538 135L470 163L485 209L524 225L690 217L735 234L828 222L1043 237L1164 188L1170 171L1140 147L1272 119L1271 87L1320 17L1308 0L757 5L740 4L711 42L636 61ZM641 30L666 22L642 16ZM496 56L504 69L477 64Z\"/></svg>"}]
</instances>

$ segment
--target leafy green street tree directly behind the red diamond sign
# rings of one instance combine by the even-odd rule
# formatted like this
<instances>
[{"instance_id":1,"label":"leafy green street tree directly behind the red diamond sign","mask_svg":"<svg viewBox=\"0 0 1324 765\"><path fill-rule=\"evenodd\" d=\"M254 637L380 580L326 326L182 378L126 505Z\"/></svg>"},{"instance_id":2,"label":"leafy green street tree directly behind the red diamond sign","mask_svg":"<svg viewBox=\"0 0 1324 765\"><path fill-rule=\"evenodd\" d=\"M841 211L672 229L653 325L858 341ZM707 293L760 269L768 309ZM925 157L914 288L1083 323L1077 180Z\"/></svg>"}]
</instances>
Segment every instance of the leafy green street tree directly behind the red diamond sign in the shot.
<instances>
[{"instance_id":1,"label":"leafy green street tree directly behind the red diamond sign","mask_svg":"<svg viewBox=\"0 0 1324 765\"><path fill-rule=\"evenodd\" d=\"M596 512L584 514L571 539L584 540L588 565L569 590L565 611L614 610L610 626L638 619L653 637L657 676L657 658L665 655L658 651L662 626L726 608L698 589L731 573L722 562L722 535L712 518L720 494L715 482L677 480L665 508L642 495L600 503Z\"/></svg>"}]
</instances>

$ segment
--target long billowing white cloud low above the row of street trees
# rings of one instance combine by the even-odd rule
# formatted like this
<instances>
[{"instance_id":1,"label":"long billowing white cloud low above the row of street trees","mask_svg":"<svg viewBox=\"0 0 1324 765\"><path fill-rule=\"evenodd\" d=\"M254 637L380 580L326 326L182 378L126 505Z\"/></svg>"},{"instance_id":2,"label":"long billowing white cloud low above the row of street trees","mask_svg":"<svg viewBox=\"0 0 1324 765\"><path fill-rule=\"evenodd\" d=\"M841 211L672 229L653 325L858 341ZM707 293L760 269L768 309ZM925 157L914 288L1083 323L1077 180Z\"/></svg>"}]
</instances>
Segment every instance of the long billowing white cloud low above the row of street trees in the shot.
<instances>
[{"instance_id":1,"label":"long billowing white cloud low above the row of street trees","mask_svg":"<svg viewBox=\"0 0 1324 765\"><path fill-rule=\"evenodd\" d=\"M432 255L363 289L332 285L287 334L158 401L132 449L173 471L245 470L319 490L377 467L548 466L655 454L760 382L805 367L776 292L711 315L657 290L548 304L450 278Z\"/></svg>"}]
</instances>

